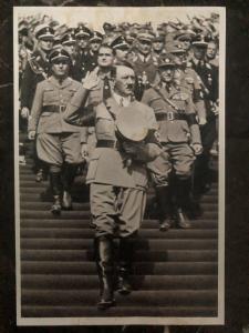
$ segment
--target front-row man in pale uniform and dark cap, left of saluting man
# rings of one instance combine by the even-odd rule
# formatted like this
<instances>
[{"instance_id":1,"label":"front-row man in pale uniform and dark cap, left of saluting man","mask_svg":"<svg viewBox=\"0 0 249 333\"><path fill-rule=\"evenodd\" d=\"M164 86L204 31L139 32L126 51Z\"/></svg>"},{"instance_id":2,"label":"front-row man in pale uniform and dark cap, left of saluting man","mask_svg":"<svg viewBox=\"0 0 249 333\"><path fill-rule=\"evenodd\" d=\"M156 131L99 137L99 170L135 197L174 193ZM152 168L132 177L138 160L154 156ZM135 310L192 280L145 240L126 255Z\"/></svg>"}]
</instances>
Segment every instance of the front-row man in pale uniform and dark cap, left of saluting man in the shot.
<instances>
[{"instance_id":1,"label":"front-row man in pale uniform and dark cap, left of saluting man","mask_svg":"<svg viewBox=\"0 0 249 333\"><path fill-rule=\"evenodd\" d=\"M71 57L63 48L50 53L50 63L52 75L37 87L29 139L37 135L38 157L49 164L54 199L51 211L60 214L62 208L72 209L71 185L82 162L80 130L65 123L62 115L81 84L69 78Z\"/></svg>"}]
</instances>

